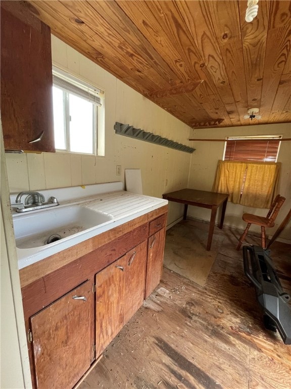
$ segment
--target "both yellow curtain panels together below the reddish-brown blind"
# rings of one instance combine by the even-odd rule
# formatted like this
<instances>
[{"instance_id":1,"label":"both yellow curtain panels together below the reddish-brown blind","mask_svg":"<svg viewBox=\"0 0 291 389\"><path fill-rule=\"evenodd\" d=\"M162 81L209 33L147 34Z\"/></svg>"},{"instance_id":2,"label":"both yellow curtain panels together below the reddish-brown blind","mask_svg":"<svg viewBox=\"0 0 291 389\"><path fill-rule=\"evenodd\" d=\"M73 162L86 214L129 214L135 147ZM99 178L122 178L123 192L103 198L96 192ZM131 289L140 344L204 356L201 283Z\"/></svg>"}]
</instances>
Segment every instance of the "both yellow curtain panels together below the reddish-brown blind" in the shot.
<instances>
[{"instance_id":1,"label":"both yellow curtain panels together below the reddish-brown blind","mask_svg":"<svg viewBox=\"0 0 291 389\"><path fill-rule=\"evenodd\" d=\"M254 208L270 208L277 194L280 164L218 161L212 191L228 193L228 200Z\"/></svg>"}]
</instances>

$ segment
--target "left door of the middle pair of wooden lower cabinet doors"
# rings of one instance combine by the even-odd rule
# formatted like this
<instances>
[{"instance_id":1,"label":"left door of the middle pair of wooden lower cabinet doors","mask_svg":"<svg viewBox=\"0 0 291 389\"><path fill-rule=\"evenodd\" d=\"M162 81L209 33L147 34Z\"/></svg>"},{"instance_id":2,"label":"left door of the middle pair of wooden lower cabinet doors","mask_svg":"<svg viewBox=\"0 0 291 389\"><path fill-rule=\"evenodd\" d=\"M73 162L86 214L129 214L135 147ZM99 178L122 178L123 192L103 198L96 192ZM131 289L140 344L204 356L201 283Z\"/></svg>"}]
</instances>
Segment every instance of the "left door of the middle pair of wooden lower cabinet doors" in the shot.
<instances>
[{"instance_id":1,"label":"left door of the middle pair of wooden lower cabinet doors","mask_svg":"<svg viewBox=\"0 0 291 389\"><path fill-rule=\"evenodd\" d=\"M96 357L123 327L125 257L96 274Z\"/></svg>"}]
</instances>

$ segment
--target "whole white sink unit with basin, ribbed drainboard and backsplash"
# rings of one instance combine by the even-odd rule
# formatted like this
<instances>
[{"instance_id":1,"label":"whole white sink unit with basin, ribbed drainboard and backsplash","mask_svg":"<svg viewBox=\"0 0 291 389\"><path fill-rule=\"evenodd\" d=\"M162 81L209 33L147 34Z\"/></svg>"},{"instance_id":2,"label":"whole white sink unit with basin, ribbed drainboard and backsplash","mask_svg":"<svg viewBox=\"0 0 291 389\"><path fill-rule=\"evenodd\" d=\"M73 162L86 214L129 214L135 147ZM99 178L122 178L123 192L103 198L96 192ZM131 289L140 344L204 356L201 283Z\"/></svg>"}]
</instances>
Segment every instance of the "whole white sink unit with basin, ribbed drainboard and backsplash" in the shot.
<instances>
[{"instance_id":1,"label":"whole white sink unit with basin, ribbed drainboard and backsplash","mask_svg":"<svg viewBox=\"0 0 291 389\"><path fill-rule=\"evenodd\" d=\"M13 212L18 268L168 204L168 200L135 195L122 188L122 182L108 182L41 190L45 199L54 196L60 205L24 213ZM11 193L11 204L15 204L17 195ZM61 239L47 244L47 239L57 234Z\"/></svg>"}]
</instances>

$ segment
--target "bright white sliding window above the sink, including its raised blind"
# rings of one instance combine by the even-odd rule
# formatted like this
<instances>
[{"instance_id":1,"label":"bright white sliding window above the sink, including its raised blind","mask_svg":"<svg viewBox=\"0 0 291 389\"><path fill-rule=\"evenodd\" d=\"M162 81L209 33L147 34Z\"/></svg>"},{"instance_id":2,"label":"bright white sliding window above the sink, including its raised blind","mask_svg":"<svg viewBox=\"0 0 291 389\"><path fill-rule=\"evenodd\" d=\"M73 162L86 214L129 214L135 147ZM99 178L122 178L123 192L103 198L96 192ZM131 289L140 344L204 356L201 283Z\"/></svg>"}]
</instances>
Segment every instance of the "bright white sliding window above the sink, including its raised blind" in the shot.
<instances>
[{"instance_id":1,"label":"bright white sliding window above the sink, including its raised blind","mask_svg":"<svg viewBox=\"0 0 291 389\"><path fill-rule=\"evenodd\" d=\"M55 68L53 84L56 149L97 154L102 91Z\"/></svg>"}]
</instances>

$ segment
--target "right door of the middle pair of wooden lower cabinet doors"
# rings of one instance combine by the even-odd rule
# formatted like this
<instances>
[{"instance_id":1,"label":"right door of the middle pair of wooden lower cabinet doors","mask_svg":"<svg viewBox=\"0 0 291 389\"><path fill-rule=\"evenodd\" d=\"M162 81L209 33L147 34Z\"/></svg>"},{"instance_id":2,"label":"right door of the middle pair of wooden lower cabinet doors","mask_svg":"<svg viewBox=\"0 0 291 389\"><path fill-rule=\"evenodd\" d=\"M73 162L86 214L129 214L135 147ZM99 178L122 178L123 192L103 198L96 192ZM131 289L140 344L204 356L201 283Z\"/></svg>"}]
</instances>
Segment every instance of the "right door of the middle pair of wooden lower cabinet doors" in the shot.
<instances>
[{"instance_id":1,"label":"right door of the middle pair of wooden lower cabinet doors","mask_svg":"<svg viewBox=\"0 0 291 389\"><path fill-rule=\"evenodd\" d=\"M147 267L147 241L126 255L125 298L123 325L135 314L144 299Z\"/></svg>"}]
</instances>

